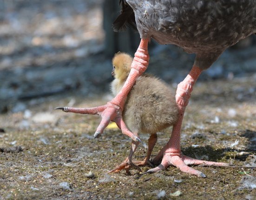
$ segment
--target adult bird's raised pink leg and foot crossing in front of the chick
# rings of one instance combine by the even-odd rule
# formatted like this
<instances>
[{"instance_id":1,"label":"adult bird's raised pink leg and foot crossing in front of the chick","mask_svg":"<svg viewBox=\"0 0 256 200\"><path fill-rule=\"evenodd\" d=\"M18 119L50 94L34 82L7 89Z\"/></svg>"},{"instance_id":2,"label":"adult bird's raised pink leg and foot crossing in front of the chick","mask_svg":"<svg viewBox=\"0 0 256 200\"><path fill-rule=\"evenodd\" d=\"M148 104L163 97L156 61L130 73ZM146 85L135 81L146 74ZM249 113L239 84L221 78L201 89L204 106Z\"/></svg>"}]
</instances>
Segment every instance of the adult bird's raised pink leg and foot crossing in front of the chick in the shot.
<instances>
[{"instance_id":1,"label":"adult bird's raised pink leg and foot crossing in front of the chick","mask_svg":"<svg viewBox=\"0 0 256 200\"><path fill-rule=\"evenodd\" d=\"M108 102L103 106L98 106L94 108L75 109L68 107L58 107L56 109L63 110L65 112L100 115L102 117L102 120L94 134L95 138L99 137L99 135L103 133L104 129L110 123L110 121L114 121L122 130L123 134L128 135L135 142L141 142L138 136L134 135L133 133L131 133L131 131L127 129L122 118L122 111L124 109L125 98L127 97L137 77L139 77L146 70L148 66L148 61L148 39L141 39L140 45L137 52L135 53L135 57L133 58L131 64L130 74L125 81L122 90L118 93L116 97L112 99L111 102Z\"/></svg>"}]
</instances>

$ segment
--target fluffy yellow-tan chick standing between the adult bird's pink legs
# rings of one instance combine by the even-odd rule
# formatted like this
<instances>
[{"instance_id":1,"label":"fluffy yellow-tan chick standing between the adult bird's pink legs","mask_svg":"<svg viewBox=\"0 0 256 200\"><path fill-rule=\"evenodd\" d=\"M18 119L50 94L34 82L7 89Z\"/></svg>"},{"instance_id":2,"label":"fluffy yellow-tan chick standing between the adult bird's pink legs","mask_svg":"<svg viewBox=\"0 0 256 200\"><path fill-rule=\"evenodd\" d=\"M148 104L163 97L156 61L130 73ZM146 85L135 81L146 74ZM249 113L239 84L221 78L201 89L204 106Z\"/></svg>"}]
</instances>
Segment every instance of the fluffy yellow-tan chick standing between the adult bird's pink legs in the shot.
<instances>
[{"instance_id":1,"label":"fluffy yellow-tan chick standing between the adult bird's pink legs","mask_svg":"<svg viewBox=\"0 0 256 200\"><path fill-rule=\"evenodd\" d=\"M119 52L112 59L112 77L115 79L112 81L111 90L114 96L125 84L131 71L131 63L132 58L126 53ZM135 135L151 134L148 140L148 152L144 161L132 161L132 155L139 144L132 141L129 156L109 173L119 172L122 169L129 173L131 167L140 170L138 166L151 165L149 159L158 139L157 132L173 125L177 121L178 113L175 95L162 80L148 74L138 77L126 97L123 119L127 128Z\"/></svg>"}]
</instances>

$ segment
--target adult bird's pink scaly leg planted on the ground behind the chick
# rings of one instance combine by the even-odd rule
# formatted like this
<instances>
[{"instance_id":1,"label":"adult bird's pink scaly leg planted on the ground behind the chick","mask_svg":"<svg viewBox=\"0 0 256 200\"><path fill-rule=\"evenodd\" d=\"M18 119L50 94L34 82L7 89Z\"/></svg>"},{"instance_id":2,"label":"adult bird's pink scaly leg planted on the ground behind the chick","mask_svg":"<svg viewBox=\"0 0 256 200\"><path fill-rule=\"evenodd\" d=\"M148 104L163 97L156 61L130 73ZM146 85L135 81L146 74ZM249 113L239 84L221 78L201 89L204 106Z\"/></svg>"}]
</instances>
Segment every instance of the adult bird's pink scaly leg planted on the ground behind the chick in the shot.
<instances>
[{"instance_id":1,"label":"adult bird's pink scaly leg planted on the ground behind the chick","mask_svg":"<svg viewBox=\"0 0 256 200\"><path fill-rule=\"evenodd\" d=\"M190 93L193 90L193 85L196 83L197 78L201 74L202 70L193 66L189 75L184 79L183 82L178 84L176 93L176 102L179 107L180 116L177 123L172 128L171 138L169 142L164 146L164 148L158 153L158 155L153 159L154 163L157 163L162 159L161 164L153 169L148 170L146 173L154 173L159 170L167 168L169 165L176 166L181 171L189 174L195 174L198 177L206 177L201 171L195 170L188 167L187 165L200 165L203 166L229 166L228 163L223 162L212 162L212 161L201 161L194 158L185 156L181 152L180 148L180 131L182 120L184 116L184 111L189 103ZM158 162L159 163L159 162Z\"/></svg>"}]
</instances>

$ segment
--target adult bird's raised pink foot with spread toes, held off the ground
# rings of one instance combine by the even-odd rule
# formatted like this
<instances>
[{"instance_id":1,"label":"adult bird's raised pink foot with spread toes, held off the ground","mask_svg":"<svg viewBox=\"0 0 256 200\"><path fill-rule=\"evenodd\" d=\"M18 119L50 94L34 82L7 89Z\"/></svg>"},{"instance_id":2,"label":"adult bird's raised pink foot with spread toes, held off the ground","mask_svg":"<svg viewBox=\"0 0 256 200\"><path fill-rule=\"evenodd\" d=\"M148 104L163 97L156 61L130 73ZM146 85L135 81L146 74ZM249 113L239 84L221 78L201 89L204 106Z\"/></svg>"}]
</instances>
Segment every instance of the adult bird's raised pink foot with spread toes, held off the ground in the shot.
<instances>
[{"instance_id":1,"label":"adult bird's raised pink foot with spread toes, held off the ground","mask_svg":"<svg viewBox=\"0 0 256 200\"><path fill-rule=\"evenodd\" d=\"M72 112L79 114L89 114L89 115L99 115L102 117L102 120L94 133L94 138L98 138L110 123L113 121L117 123L118 128L121 129L124 135L131 137L131 139L135 142L140 142L143 146L144 143L140 140L140 138L133 134L125 125L125 122L122 117L122 110L119 106L112 102L108 102L105 105L97 106L93 108L71 108L71 107L58 107L56 110L62 110L64 112Z\"/></svg>"}]
</instances>

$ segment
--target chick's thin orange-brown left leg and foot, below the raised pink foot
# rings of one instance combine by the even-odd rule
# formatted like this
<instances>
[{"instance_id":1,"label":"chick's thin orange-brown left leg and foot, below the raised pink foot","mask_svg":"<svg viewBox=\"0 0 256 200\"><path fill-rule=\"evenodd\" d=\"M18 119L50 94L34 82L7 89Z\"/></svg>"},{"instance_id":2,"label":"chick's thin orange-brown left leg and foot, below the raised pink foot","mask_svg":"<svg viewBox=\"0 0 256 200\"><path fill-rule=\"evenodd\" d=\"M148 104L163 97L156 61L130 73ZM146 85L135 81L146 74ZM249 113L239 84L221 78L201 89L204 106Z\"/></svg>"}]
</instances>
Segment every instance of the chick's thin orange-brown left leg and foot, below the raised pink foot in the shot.
<instances>
[{"instance_id":1,"label":"chick's thin orange-brown left leg and foot, below the raised pink foot","mask_svg":"<svg viewBox=\"0 0 256 200\"><path fill-rule=\"evenodd\" d=\"M132 141L131 142L131 150L129 156L123 161L120 165L118 165L116 168L112 169L108 173L118 173L122 169L126 170L126 174L130 174L130 169L131 168L137 168L138 171L141 171L141 169L132 162L132 156L134 152L136 151L138 147L139 142Z\"/></svg>"}]
</instances>

